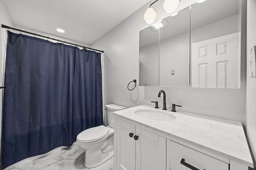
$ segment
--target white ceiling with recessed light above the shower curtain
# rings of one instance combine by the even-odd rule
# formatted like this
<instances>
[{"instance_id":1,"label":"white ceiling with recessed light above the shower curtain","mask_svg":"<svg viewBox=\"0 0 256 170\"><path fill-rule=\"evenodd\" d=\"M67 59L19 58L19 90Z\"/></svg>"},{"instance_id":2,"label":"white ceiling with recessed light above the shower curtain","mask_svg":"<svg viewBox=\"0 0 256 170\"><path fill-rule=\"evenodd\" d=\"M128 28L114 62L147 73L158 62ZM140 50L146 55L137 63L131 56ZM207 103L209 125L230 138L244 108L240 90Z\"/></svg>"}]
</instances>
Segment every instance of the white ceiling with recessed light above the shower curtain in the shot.
<instances>
[{"instance_id":1,"label":"white ceiling with recessed light above the shower curtain","mask_svg":"<svg viewBox=\"0 0 256 170\"><path fill-rule=\"evenodd\" d=\"M4 4L14 25L90 45L149 1L4 0Z\"/></svg>"}]
</instances>

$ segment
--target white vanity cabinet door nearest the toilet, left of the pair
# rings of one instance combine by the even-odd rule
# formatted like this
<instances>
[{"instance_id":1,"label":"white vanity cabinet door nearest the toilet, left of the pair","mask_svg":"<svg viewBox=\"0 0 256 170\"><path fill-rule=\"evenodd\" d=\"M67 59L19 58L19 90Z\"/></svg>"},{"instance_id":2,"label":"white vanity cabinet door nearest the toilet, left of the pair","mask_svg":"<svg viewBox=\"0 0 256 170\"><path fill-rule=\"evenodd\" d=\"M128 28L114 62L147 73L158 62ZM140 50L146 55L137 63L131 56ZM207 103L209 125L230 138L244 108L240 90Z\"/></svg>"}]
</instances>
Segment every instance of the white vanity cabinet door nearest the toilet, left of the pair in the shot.
<instances>
[{"instance_id":1,"label":"white vanity cabinet door nearest the toilet, left of the pair","mask_svg":"<svg viewBox=\"0 0 256 170\"><path fill-rule=\"evenodd\" d=\"M117 119L116 164L119 170L135 170L135 125ZM130 134L130 133L133 133ZM132 137L130 137L130 135Z\"/></svg>"}]
</instances>

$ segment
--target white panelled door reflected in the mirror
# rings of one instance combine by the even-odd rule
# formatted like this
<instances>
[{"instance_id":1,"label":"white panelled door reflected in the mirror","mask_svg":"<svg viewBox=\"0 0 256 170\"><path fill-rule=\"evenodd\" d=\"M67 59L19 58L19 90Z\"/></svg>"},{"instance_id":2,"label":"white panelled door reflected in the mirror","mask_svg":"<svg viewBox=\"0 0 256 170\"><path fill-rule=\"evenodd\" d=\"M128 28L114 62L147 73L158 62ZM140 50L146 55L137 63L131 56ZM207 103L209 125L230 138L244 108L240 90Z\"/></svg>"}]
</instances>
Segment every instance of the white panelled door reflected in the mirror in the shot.
<instances>
[{"instance_id":1,"label":"white panelled door reflected in the mirror","mask_svg":"<svg viewBox=\"0 0 256 170\"><path fill-rule=\"evenodd\" d=\"M240 33L192 43L192 87L239 88Z\"/></svg>"}]
</instances>

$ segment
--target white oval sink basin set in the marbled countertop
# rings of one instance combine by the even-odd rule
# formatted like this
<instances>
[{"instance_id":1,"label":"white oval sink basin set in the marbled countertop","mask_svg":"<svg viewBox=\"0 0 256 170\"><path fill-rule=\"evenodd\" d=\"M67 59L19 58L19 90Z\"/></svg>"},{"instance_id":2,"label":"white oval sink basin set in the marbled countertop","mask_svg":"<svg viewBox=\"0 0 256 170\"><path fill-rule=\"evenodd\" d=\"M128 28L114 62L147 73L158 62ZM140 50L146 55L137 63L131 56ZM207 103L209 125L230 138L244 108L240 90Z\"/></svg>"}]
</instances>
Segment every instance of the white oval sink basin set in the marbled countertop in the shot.
<instances>
[{"instance_id":1,"label":"white oval sink basin set in the marbled countertop","mask_svg":"<svg viewBox=\"0 0 256 170\"><path fill-rule=\"evenodd\" d=\"M154 109L139 109L134 111L134 114L145 119L156 121L172 121L176 119L174 115L167 111L154 110Z\"/></svg>"}]
</instances>

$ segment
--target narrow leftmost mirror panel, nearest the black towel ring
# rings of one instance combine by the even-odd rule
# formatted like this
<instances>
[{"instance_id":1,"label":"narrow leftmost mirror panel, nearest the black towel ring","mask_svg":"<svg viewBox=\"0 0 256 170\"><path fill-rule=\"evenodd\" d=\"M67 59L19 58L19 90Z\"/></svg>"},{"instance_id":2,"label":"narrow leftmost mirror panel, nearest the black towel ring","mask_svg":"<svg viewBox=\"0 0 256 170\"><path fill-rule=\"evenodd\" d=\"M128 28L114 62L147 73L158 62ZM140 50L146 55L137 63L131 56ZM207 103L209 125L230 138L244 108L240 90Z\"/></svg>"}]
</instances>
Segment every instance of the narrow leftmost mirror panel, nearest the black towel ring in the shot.
<instances>
[{"instance_id":1,"label":"narrow leftmost mirror panel, nearest the black towel ring","mask_svg":"<svg viewBox=\"0 0 256 170\"><path fill-rule=\"evenodd\" d=\"M159 23L140 31L139 86L159 86Z\"/></svg>"}]
</instances>

